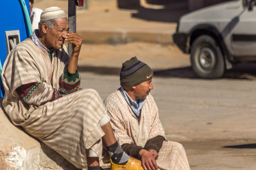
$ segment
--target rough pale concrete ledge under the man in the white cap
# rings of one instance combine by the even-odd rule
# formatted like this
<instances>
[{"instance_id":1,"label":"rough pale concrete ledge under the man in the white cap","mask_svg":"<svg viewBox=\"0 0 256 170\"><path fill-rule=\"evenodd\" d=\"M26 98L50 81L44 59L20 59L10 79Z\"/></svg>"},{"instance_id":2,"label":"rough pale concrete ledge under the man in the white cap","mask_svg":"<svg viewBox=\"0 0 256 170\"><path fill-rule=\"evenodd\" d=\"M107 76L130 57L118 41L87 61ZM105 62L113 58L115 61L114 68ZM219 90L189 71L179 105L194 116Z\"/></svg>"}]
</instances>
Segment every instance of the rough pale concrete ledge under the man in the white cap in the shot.
<instances>
[{"instance_id":1,"label":"rough pale concrete ledge under the man in the white cap","mask_svg":"<svg viewBox=\"0 0 256 170\"><path fill-rule=\"evenodd\" d=\"M4 112L0 98L1 170L78 170L41 141L13 125Z\"/></svg>"}]
</instances>

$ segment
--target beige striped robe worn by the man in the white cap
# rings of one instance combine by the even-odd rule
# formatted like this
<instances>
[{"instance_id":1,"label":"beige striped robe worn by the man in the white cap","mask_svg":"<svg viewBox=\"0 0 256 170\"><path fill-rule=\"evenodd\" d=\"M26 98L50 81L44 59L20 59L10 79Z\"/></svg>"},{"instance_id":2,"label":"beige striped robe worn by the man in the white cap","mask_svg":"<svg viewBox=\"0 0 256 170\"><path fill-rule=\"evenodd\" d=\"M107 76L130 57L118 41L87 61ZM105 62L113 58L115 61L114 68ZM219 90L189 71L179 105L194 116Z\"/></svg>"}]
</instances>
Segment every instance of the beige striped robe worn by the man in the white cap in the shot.
<instances>
[{"instance_id":1,"label":"beige striped robe worn by the man in the white cap","mask_svg":"<svg viewBox=\"0 0 256 170\"><path fill-rule=\"evenodd\" d=\"M41 106L25 103L15 89L31 82L45 82L59 89L59 78L69 62L67 47L48 52L29 38L18 44L4 62L3 106L11 121L44 142L78 168L87 166L85 149L104 135L98 122L106 109L93 89L76 91ZM101 140L100 140L101 141ZM95 147L95 145L94 145ZM102 154L102 143L94 151Z\"/></svg>"}]
</instances>

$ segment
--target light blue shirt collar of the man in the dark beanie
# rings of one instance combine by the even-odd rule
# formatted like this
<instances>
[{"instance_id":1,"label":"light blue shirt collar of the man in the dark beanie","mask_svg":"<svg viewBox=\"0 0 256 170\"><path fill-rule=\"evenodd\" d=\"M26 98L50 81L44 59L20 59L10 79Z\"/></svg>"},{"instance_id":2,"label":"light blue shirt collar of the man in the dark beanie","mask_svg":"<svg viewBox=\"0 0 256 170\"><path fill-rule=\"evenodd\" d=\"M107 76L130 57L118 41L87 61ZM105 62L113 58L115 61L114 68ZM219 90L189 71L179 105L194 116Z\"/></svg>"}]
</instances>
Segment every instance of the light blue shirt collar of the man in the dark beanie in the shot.
<instances>
[{"instance_id":1,"label":"light blue shirt collar of the man in the dark beanie","mask_svg":"<svg viewBox=\"0 0 256 170\"><path fill-rule=\"evenodd\" d=\"M139 117L140 113L141 113L141 108L143 107L143 105L145 104L146 100L145 99L141 99L141 100L132 100L130 98L130 96L126 93L126 91L124 90L123 87L120 87L119 90L121 91L121 94L124 96L124 99L126 100L126 102L129 104L130 108L132 109L132 111L135 113L135 115L137 117Z\"/></svg>"}]
</instances>

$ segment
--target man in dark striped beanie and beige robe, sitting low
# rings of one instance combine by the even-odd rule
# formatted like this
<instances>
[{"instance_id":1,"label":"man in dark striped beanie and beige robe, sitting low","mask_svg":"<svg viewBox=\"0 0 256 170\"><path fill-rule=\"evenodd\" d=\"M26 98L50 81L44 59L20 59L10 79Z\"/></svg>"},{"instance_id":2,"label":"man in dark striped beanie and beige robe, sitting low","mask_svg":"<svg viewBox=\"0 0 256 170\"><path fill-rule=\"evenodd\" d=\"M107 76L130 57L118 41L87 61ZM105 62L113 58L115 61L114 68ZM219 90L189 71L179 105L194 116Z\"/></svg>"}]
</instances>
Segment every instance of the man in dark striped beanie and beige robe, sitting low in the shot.
<instances>
[{"instance_id":1,"label":"man in dark striped beanie and beige robe, sitting low","mask_svg":"<svg viewBox=\"0 0 256 170\"><path fill-rule=\"evenodd\" d=\"M115 137L128 155L141 160L143 169L189 170L183 146L166 140L150 94L152 78L152 69L137 57L123 63L121 87L104 100ZM108 166L107 157L104 151L101 166Z\"/></svg>"}]
</instances>

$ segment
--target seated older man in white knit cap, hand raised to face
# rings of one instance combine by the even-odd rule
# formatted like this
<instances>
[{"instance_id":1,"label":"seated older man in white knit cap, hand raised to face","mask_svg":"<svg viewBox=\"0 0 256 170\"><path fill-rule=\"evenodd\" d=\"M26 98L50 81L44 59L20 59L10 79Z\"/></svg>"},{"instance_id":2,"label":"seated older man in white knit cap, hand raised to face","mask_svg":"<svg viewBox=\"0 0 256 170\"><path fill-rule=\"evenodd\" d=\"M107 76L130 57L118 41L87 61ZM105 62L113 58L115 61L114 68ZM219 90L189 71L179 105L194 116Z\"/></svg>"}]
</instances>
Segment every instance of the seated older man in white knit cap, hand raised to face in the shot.
<instances>
[{"instance_id":1,"label":"seated older man in white knit cap, hand raised to face","mask_svg":"<svg viewBox=\"0 0 256 170\"><path fill-rule=\"evenodd\" d=\"M124 153L115 139L98 93L80 89L82 38L68 30L63 10L43 10L39 29L19 43L4 62L4 110L13 124L77 168L100 169L103 141L113 168L142 169L141 162ZM64 40L72 44L71 57Z\"/></svg>"}]
</instances>

